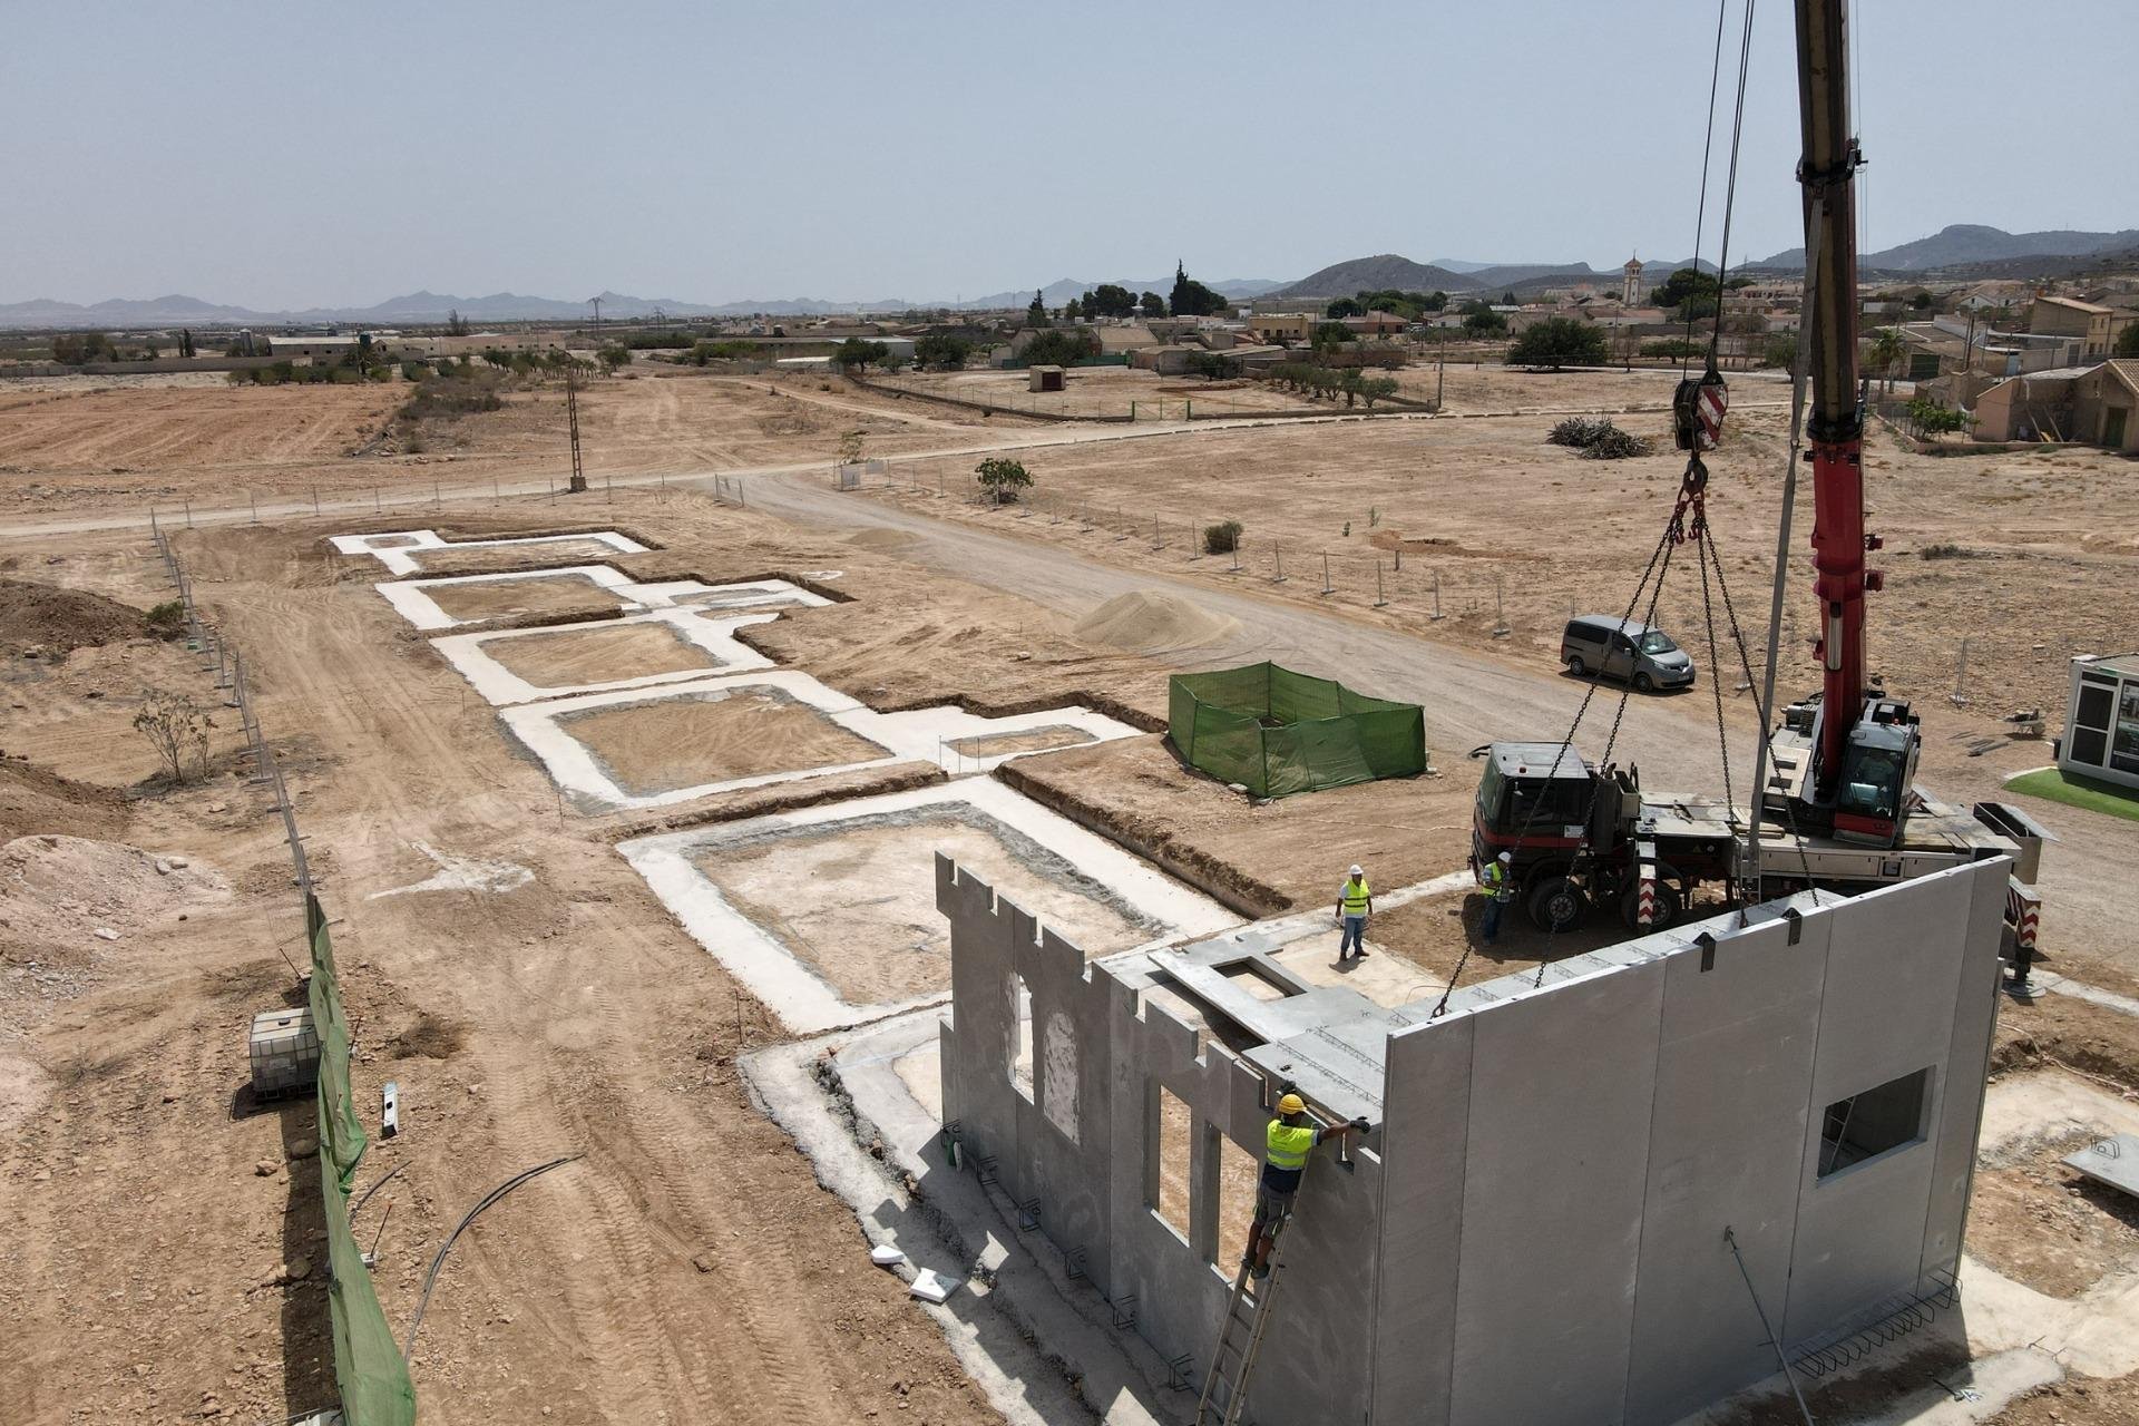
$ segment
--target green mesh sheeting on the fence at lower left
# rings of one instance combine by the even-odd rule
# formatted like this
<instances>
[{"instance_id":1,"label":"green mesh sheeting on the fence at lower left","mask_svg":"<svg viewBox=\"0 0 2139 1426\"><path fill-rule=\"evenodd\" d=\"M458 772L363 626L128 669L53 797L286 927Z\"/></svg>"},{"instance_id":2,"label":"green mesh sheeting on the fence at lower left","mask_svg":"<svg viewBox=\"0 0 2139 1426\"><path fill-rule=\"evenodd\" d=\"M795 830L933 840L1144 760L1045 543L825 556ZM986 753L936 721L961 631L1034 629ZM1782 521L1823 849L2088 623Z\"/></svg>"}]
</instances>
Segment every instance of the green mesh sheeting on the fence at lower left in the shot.
<instances>
[{"instance_id":1,"label":"green mesh sheeting on the fence at lower left","mask_svg":"<svg viewBox=\"0 0 2139 1426\"><path fill-rule=\"evenodd\" d=\"M319 898L304 898L312 943L312 1030L319 1035L319 1189L327 1208L327 1315L344 1426L413 1426L415 1388L387 1317L379 1311L364 1249L349 1229L349 1187L368 1144L349 1095L349 1020L334 975L334 943Z\"/></svg>"}]
</instances>

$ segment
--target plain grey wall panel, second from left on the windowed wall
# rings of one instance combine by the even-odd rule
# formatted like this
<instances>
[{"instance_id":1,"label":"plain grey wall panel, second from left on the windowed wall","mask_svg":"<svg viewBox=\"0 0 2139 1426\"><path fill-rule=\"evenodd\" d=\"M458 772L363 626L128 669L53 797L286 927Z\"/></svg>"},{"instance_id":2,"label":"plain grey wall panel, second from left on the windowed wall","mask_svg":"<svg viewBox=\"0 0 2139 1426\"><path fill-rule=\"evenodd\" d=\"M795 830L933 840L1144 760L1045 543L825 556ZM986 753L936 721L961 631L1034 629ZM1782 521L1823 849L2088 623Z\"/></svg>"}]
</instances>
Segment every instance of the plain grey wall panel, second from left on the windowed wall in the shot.
<instances>
[{"instance_id":1,"label":"plain grey wall panel, second from left on the windowed wall","mask_svg":"<svg viewBox=\"0 0 2139 1426\"><path fill-rule=\"evenodd\" d=\"M1476 1011L1455 1422L1624 1417L1664 962Z\"/></svg>"}]
</instances>

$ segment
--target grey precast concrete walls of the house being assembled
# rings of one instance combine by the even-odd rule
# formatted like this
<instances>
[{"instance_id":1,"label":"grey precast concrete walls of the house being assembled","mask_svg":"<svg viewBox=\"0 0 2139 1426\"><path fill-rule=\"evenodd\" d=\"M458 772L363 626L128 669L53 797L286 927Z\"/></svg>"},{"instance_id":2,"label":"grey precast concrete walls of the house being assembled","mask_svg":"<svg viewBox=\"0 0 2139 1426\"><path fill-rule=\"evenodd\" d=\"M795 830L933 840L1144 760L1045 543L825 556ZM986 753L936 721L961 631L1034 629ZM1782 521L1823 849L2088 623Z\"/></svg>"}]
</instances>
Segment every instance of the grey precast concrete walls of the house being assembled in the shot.
<instances>
[{"instance_id":1,"label":"grey precast concrete walls of the house being assembled","mask_svg":"<svg viewBox=\"0 0 2139 1426\"><path fill-rule=\"evenodd\" d=\"M1718 917L1390 1035L1369 1148L1309 1172L1251 1417L1662 1424L1775 1370L1760 1308L1803 1345L1934 1287L1966 1223L2006 868L1797 898L1795 928ZM939 904L945 1114L1200 1375L1232 1270L1209 1261L1215 1144L1260 1150L1260 1078L1142 996L1151 962L1087 968L948 862ZM1050 1056L1035 1030L1037 1103L1010 1086L1014 973L1035 1024L1076 1041ZM1820 1178L1825 1107L1914 1071L1921 1137ZM1074 1080L1074 1120L1048 1112L1050 1075ZM1198 1125L1187 1240L1151 1208L1161 1084Z\"/></svg>"}]
</instances>

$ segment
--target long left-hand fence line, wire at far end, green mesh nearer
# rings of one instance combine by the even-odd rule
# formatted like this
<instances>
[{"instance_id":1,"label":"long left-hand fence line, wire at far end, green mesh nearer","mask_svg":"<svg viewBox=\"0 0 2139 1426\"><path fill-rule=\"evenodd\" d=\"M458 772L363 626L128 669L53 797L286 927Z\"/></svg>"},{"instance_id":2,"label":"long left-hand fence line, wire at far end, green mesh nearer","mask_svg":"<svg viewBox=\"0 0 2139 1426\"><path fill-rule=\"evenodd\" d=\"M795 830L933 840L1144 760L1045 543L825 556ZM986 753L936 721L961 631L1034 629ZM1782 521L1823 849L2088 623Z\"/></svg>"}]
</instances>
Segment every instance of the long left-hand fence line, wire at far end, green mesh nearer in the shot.
<instances>
[{"instance_id":1,"label":"long left-hand fence line, wire at far end, green mesh nearer","mask_svg":"<svg viewBox=\"0 0 2139 1426\"><path fill-rule=\"evenodd\" d=\"M306 996L312 1030L319 1037L319 1184L327 1225L327 1317L342 1422L344 1426L413 1426L415 1388L409 1383L409 1366L394 1345L385 1313L379 1308L364 1246L349 1227L349 1191L357 1165L364 1161L366 1135L351 1095L349 1020L342 1011L327 913L321 906L319 883L304 851L304 834L297 830L297 810L274 748L261 731L259 712L252 708L244 650L201 618L201 607L193 596L193 577L171 549L154 511L150 511L150 534L184 609L186 648L201 656L203 671L214 671L216 691L222 693L225 706L237 710L246 738L240 753L246 763L246 782L263 789L272 797L274 812L282 819L282 836L289 842L289 859L304 909L304 936L310 947Z\"/></svg>"}]
</instances>

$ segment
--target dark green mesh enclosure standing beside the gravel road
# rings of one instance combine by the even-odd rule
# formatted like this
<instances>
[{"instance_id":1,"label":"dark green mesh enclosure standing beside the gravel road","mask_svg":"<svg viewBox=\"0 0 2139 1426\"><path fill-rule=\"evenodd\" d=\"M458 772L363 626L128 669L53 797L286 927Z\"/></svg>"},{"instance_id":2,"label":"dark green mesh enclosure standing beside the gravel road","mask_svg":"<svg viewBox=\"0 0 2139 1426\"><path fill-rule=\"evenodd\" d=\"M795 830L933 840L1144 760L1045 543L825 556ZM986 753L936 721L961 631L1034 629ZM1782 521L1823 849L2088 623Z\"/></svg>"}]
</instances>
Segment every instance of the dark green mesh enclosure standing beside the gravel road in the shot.
<instances>
[{"instance_id":1,"label":"dark green mesh enclosure standing beside the gravel road","mask_svg":"<svg viewBox=\"0 0 2139 1426\"><path fill-rule=\"evenodd\" d=\"M1258 797L1407 778L1427 770L1427 716L1275 663L1176 673L1168 733L1191 765Z\"/></svg>"}]
</instances>

